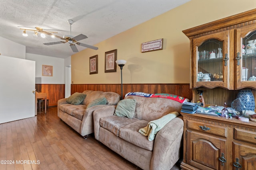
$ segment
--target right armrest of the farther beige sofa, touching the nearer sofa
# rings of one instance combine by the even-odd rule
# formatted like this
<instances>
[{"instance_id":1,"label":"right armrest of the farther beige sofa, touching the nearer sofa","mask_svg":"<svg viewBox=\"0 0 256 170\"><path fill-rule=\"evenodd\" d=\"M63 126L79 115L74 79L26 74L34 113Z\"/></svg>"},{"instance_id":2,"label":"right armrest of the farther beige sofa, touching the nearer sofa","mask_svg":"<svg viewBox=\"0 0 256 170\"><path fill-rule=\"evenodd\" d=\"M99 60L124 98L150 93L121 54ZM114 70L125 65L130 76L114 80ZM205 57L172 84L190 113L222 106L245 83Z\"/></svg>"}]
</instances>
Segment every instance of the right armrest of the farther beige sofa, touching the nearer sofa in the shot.
<instances>
[{"instance_id":1,"label":"right armrest of the farther beige sofa, touching the nearer sofa","mask_svg":"<svg viewBox=\"0 0 256 170\"><path fill-rule=\"evenodd\" d=\"M106 106L108 105L96 105L85 110L82 123L81 123L81 129L80 129L80 134L82 136L88 135L94 132L94 123L93 123L93 116L92 116L92 113L94 112L94 110L100 109Z\"/></svg>"}]
</instances>

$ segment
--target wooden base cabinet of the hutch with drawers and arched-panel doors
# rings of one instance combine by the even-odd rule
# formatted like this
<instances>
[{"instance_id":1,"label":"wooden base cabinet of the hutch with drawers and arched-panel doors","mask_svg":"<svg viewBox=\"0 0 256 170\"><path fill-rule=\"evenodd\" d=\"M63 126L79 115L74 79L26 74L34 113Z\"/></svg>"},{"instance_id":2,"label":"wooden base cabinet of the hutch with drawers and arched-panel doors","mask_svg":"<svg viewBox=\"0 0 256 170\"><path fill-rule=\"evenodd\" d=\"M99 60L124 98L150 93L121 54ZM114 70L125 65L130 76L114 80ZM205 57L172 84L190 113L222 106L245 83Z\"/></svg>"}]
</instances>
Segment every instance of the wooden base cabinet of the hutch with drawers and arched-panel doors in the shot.
<instances>
[{"instance_id":1,"label":"wooden base cabinet of the hutch with drawers and arched-panel doors","mask_svg":"<svg viewBox=\"0 0 256 170\"><path fill-rule=\"evenodd\" d=\"M182 113L183 170L253 170L256 123L236 118Z\"/></svg>"}]
</instances>

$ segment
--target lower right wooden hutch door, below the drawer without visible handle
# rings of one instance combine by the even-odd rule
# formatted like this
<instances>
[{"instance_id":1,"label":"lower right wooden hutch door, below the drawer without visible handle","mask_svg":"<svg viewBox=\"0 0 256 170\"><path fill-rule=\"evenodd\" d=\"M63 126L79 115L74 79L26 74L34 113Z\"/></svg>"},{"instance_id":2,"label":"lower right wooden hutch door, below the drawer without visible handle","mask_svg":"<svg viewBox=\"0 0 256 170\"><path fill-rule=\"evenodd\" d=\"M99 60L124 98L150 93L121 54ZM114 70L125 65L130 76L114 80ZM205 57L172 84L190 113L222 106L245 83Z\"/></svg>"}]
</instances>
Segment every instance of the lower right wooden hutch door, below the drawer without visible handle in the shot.
<instances>
[{"instance_id":1,"label":"lower right wooden hutch door, below the drawer without visible handle","mask_svg":"<svg viewBox=\"0 0 256 170\"><path fill-rule=\"evenodd\" d=\"M238 158L239 164L242 166L239 170L254 170L256 166L256 148L239 143L233 143L233 145L233 161L236 162L236 158Z\"/></svg>"}]
</instances>

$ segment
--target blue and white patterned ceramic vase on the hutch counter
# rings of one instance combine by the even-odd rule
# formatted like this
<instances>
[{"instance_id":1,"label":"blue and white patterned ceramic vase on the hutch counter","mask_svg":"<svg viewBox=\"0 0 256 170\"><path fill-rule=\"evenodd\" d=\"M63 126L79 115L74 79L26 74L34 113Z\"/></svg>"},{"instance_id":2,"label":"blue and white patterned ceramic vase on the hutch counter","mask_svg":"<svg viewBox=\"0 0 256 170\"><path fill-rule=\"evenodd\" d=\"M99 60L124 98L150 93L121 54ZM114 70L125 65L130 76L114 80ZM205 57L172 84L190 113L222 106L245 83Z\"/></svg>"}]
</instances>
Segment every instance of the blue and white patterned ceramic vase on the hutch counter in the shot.
<instances>
[{"instance_id":1,"label":"blue and white patterned ceramic vase on the hutch counter","mask_svg":"<svg viewBox=\"0 0 256 170\"><path fill-rule=\"evenodd\" d=\"M251 90L239 90L236 98L241 99L242 103L246 107L246 110L254 111L255 100Z\"/></svg>"}]
</instances>

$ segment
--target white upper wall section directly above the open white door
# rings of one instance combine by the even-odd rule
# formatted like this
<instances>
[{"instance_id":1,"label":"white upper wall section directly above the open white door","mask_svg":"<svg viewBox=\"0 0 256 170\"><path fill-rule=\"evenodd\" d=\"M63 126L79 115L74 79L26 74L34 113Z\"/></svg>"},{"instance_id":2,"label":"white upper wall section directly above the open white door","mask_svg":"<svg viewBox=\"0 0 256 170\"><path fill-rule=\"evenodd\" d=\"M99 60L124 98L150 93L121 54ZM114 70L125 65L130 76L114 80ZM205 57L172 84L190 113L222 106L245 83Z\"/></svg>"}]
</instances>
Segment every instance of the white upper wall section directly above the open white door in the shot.
<instances>
[{"instance_id":1,"label":"white upper wall section directly above the open white door","mask_svg":"<svg viewBox=\"0 0 256 170\"><path fill-rule=\"evenodd\" d=\"M8 57L26 59L26 46L0 37L0 53Z\"/></svg>"}]
</instances>

